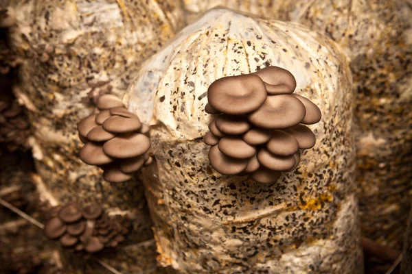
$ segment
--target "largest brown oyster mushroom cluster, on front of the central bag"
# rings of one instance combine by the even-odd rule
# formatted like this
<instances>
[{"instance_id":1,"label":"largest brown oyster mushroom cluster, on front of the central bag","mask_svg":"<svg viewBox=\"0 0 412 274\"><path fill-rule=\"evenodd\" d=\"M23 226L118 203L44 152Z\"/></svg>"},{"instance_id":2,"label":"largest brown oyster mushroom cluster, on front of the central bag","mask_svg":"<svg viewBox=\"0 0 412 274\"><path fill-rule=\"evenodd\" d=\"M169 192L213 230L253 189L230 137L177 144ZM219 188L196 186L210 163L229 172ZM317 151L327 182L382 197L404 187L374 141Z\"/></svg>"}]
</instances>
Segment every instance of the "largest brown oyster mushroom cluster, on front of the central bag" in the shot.
<instances>
[{"instance_id":1,"label":"largest brown oyster mushroom cluster, on front of the central bag","mask_svg":"<svg viewBox=\"0 0 412 274\"><path fill-rule=\"evenodd\" d=\"M310 100L293 95L295 77L269 66L249 75L223 77L207 90L205 112L214 114L205 135L211 166L223 175L249 175L256 182L275 182L310 149L314 133L302 124L321 120Z\"/></svg>"}]
</instances>

